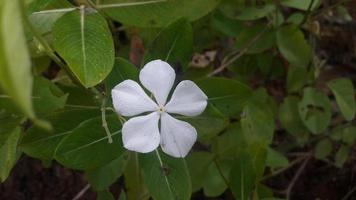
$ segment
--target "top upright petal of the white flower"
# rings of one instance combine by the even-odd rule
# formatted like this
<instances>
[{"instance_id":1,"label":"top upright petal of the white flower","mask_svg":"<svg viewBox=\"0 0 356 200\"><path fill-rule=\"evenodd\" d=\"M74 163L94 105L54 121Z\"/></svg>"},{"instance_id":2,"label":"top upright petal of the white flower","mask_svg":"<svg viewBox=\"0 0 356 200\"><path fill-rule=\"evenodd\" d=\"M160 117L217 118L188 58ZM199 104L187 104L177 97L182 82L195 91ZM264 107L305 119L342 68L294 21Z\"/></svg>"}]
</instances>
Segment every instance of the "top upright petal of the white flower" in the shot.
<instances>
[{"instance_id":1,"label":"top upright petal of the white flower","mask_svg":"<svg viewBox=\"0 0 356 200\"><path fill-rule=\"evenodd\" d=\"M140 71L140 81L154 95L159 105L164 105L172 89L176 73L162 60L147 63Z\"/></svg>"}]
</instances>

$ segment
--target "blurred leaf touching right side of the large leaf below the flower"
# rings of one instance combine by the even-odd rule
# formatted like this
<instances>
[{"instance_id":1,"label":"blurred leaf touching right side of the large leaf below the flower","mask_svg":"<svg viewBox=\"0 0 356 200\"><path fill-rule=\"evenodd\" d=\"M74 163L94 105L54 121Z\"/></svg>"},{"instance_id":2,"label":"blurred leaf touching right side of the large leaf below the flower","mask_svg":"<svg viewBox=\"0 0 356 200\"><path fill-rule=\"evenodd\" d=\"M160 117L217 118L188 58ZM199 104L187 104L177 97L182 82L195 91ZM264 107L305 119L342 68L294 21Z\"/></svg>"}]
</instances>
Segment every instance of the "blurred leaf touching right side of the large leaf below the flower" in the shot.
<instances>
[{"instance_id":1,"label":"blurred leaf touching right side of the large leaf below the flower","mask_svg":"<svg viewBox=\"0 0 356 200\"><path fill-rule=\"evenodd\" d=\"M207 168L213 161L213 155L208 152L192 152L187 156L187 165L192 182L192 191L196 192L203 187L207 177Z\"/></svg>"}]
</instances>

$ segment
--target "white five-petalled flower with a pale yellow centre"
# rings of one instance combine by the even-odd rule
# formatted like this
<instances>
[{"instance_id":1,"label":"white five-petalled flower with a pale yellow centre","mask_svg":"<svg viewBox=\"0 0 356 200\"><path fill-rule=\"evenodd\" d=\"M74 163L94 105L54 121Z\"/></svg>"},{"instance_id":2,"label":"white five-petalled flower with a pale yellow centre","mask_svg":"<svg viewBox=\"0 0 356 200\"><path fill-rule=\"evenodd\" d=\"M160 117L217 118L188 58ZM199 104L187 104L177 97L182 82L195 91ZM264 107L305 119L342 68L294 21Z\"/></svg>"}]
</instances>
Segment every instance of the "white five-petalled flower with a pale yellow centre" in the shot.
<instances>
[{"instance_id":1,"label":"white five-petalled flower with a pale yellow centre","mask_svg":"<svg viewBox=\"0 0 356 200\"><path fill-rule=\"evenodd\" d=\"M125 80L112 89L114 108L119 114L130 117L145 113L124 123L122 141L126 149L148 153L161 145L162 150L173 157L188 154L197 139L197 131L170 114L197 116L205 110L208 97L195 83L185 80L177 85L166 103L175 76L173 68L161 60L151 61L142 68L140 82L155 101L132 80Z\"/></svg>"}]
</instances>

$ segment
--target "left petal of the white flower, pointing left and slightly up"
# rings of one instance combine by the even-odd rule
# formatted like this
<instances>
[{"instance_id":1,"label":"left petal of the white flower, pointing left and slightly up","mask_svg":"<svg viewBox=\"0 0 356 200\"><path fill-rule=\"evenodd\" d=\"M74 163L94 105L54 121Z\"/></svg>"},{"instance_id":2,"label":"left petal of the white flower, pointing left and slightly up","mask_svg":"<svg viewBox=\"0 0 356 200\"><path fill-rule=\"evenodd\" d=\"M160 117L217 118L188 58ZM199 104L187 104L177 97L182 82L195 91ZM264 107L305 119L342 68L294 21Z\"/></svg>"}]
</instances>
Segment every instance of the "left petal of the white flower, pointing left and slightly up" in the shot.
<instances>
[{"instance_id":1,"label":"left petal of the white flower, pointing left and slightly up","mask_svg":"<svg viewBox=\"0 0 356 200\"><path fill-rule=\"evenodd\" d=\"M138 115L154 111L157 104L147 96L141 86L132 80L125 80L111 90L115 110L123 116Z\"/></svg>"}]
</instances>

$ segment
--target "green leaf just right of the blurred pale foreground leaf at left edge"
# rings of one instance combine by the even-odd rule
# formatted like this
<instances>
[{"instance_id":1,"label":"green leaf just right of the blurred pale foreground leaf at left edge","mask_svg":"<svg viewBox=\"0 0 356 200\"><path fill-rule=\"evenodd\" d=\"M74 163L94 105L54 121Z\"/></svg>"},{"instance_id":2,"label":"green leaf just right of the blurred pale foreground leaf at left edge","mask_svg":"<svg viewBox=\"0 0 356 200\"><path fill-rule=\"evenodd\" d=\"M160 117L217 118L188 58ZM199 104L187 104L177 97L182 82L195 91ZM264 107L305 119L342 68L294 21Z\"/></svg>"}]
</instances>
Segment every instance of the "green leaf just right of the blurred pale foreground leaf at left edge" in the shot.
<instances>
[{"instance_id":1,"label":"green leaf just right of the blurred pale foreground leaf at left edge","mask_svg":"<svg viewBox=\"0 0 356 200\"><path fill-rule=\"evenodd\" d=\"M64 107L68 94L64 94L51 81L36 77L33 84L33 104L37 113L50 113Z\"/></svg>"}]
</instances>

